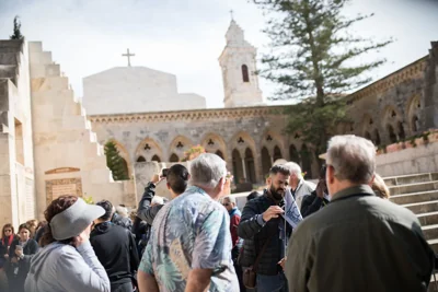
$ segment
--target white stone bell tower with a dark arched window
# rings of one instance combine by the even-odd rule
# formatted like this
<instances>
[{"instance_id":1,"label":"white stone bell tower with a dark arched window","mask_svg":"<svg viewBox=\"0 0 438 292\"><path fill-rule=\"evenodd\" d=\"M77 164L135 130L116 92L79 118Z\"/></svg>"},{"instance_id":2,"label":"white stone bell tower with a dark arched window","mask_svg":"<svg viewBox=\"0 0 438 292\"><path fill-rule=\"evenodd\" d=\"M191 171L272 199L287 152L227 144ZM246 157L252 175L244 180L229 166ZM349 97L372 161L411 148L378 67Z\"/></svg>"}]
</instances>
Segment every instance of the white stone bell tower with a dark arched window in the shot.
<instances>
[{"instance_id":1,"label":"white stone bell tower with a dark arched window","mask_svg":"<svg viewBox=\"0 0 438 292\"><path fill-rule=\"evenodd\" d=\"M234 21L230 23L226 39L227 46L219 57L226 107L263 105L256 74L257 49L245 40L243 30Z\"/></svg>"}]
</instances>

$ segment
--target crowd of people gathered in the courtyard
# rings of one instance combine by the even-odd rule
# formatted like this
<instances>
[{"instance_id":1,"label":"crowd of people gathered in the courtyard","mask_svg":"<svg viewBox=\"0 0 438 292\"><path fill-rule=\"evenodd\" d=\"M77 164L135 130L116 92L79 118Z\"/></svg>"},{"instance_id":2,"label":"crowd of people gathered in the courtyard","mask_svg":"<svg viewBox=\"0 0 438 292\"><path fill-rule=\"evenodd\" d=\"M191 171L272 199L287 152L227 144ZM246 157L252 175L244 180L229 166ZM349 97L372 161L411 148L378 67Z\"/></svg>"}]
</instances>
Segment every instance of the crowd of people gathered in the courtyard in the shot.
<instances>
[{"instance_id":1,"label":"crowd of people gathered in the courtyard","mask_svg":"<svg viewBox=\"0 0 438 292\"><path fill-rule=\"evenodd\" d=\"M164 178L169 201L155 196ZM57 198L45 222L3 226L9 291L427 291L435 254L418 219L388 200L370 141L333 137L316 185L295 162L274 165L242 210L228 179L205 153L154 175L131 218L107 200Z\"/></svg>"}]
</instances>

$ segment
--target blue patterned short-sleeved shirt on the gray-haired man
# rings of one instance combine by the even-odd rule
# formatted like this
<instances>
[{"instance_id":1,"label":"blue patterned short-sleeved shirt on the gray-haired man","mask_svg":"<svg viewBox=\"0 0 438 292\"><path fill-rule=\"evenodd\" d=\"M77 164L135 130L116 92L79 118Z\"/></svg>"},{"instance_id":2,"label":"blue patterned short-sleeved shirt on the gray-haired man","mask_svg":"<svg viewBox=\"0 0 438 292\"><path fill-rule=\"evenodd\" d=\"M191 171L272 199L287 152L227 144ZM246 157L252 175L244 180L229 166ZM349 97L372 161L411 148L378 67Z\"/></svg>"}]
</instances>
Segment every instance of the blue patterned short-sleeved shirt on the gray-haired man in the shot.
<instances>
[{"instance_id":1,"label":"blue patterned short-sleeved shirt on the gray-haired man","mask_svg":"<svg viewBox=\"0 0 438 292\"><path fill-rule=\"evenodd\" d=\"M239 291L229 226L226 208L189 187L157 214L139 269L164 292L184 292L192 269L212 270L208 291Z\"/></svg>"}]
</instances>

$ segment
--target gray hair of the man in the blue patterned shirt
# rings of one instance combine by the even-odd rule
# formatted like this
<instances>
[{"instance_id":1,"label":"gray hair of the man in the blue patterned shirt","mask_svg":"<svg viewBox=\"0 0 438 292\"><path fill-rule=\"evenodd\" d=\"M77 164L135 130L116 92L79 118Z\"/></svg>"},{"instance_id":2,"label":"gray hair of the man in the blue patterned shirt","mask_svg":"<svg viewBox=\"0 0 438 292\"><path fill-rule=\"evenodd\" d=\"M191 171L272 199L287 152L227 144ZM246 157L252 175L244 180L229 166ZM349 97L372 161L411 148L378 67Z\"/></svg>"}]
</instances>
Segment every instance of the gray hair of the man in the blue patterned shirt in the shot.
<instances>
[{"instance_id":1,"label":"gray hair of the man in the blue patterned shirt","mask_svg":"<svg viewBox=\"0 0 438 292\"><path fill-rule=\"evenodd\" d=\"M191 163L191 185L216 188L227 176L226 162L216 154L203 153Z\"/></svg>"}]
</instances>

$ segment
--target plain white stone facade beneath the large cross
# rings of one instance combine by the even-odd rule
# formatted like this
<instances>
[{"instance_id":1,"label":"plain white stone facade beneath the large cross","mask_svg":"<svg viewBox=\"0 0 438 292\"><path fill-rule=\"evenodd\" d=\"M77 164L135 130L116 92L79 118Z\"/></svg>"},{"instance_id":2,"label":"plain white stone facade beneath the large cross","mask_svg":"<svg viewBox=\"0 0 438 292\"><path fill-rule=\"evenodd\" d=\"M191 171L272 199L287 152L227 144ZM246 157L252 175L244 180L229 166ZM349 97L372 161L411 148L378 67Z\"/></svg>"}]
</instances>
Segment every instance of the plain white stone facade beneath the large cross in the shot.
<instances>
[{"instance_id":1,"label":"plain white stone facade beneath the large cross","mask_svg":"<svg viewBox=\"0 0 438 292\"><path fill-rule=\"evenodd\" d=\"M206 108L205 97L177 92L176 77L146 67L117 67L83 79L89 115Z\"/></svg>"}]
</instances>

